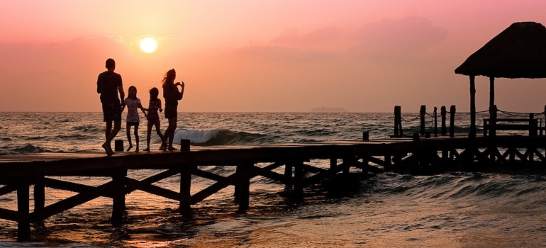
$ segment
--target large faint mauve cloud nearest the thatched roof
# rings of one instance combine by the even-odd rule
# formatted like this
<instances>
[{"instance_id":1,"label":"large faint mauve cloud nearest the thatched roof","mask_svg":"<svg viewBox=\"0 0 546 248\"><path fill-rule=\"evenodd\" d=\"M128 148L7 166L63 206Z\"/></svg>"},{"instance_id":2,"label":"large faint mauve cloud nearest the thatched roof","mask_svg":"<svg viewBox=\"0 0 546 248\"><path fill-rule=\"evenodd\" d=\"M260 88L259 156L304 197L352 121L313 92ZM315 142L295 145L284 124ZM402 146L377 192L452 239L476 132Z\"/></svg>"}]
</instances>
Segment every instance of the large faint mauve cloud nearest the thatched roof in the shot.
<instances>
[{"instance_id":1,"label":"large faint mauve cloud nearest the thatched roof","mask_svg":"<svg viewBox=\"0 0 546 248\"><path fill-rule=\"evenodd\" d=\"M351 35L357 41L355 51L384 55L426 52L433 45L442 43L446 36L444 28L416 16L368 23Z\"/></svg>"}]
</instances>

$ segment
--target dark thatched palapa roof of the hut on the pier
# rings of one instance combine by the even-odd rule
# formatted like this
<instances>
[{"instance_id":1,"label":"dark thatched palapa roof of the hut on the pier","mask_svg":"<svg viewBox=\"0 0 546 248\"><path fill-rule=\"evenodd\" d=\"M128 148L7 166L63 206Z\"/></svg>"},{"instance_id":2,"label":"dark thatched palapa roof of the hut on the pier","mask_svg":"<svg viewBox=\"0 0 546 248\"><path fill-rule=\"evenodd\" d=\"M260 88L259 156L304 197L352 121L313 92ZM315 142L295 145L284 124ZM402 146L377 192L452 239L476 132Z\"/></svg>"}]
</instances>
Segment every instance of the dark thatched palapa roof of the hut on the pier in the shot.
<instances>
[{"instance_id":1,"label":"dark thatched palapa roof of the hut on the pier","mask_svg":"<svg viewBox=\"0 0 546 248\"><path fill-rule=\"evenodd\" d=\"M546 27L540 23L513 23L470 55L456 74L506 77L546 77Z\"/></svg>"}]
</instances>

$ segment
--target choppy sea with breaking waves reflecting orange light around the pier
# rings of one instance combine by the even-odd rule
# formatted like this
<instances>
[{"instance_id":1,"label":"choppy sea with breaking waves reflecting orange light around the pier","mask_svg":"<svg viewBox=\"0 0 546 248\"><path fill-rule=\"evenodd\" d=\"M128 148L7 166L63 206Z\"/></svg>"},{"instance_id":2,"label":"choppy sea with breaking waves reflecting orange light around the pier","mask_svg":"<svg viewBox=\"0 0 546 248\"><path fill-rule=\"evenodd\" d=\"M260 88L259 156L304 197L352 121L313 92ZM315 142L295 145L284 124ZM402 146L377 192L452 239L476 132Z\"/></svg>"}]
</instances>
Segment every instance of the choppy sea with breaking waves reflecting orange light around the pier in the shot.
<instances>
[{"instance_id":1,"label":"choppy sea with breaking waves reflecting orange light around the pier","mask_svg":"<svg viewBox=\"0 0 546 248\"><path fill-rule=\"evenodd\" d=\"M102 113L0 114L0 155L104 152ZM417 115L403 114L405 133L418 132ZM193 146L361 140L362 132L384 139L394 127L392 113L179 113L178 119L174 140L189 139ZM468 133L468 115L457 115L455 125L456 133ZM162 120L162 130L166 126ZM430 115L426 126L434 133ZM144 123L139 134L143 150ZM127 147L125 125L116 139ZM150 141L151 149L160 147L155 132ZM329 161L309 164L326 168ZM231 167L200 169L234 172ZM143 179L157 172L129 171L128 176ZM62 180L100 185L110 179ZM24 242L16 240L16 222L0 220L0 247L546 247L542 170L387 172L353 180L344 188L308 187L304 200L294 201L284 185L257 176L251 180L247 213L238 213L232 187L194 205L193 215L180 215L176 201L135 191L126 196L121 227L110 224L111 199L97 198L33 225ZM191 191L210 184L194 177ZM179 177L155 185L177 191ZM46 205L72 195L46 188ZM16 194L0 196L0 208L16 210Z\"/></svg>"}]
</instances>

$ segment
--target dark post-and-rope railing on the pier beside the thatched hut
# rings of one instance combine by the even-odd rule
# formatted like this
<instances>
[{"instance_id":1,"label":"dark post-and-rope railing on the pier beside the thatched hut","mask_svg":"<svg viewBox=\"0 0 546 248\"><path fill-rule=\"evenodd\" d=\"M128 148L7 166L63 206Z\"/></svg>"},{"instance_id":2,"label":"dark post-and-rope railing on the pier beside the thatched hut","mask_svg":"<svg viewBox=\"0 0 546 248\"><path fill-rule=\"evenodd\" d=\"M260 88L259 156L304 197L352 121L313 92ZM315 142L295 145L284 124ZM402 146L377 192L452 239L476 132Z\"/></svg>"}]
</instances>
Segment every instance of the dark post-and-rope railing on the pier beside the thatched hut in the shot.
<instances>
[{"instance_id":1,"label":"dark post-and-rope railing on the pier beside the thatched hut","mask_svg":"<svg viewBox=\"0 0 546 248\"><path fill-rule=\"evenodd\" d=\"M529 136L546 135L546 106L542 113L520 113L511 111L501 111L496 106L491 106L489 110L477 111L476 113L489 113L489 118L484 116L484 136L495 136L497 131L527 131ZM498 118L499 113L503 116ZM406 137L416 135L430 137L438 135L455 137L456 127L462 128L463 121L461 116L469 115L470 113L458 112L456 106L450 106L450 111L447 112L445 106L440 108L440 120L438 120L438 108L434 107L433 113L428 113L425 105L420 106L418 115L411 117L403 117L401 106L394 106L394 134L391 137ZM407 115L407 114L406 114ZM449 115L449 134L447 125L447 115ZM537 116L545 118L536 118ZM457 121L457 118L459 120ZM413 123L419 121L418 132L413 128L403 129L402 123ZM456 124L457 121L457 124ZM440 122L440 127L438 127ZM410 129L410 130L408 130ZM410 132L410 133L408 133ZM505 132L506 133L506 132ZM466 133L465 133L466 134Z\"/></svg>"}]
</instances>

